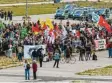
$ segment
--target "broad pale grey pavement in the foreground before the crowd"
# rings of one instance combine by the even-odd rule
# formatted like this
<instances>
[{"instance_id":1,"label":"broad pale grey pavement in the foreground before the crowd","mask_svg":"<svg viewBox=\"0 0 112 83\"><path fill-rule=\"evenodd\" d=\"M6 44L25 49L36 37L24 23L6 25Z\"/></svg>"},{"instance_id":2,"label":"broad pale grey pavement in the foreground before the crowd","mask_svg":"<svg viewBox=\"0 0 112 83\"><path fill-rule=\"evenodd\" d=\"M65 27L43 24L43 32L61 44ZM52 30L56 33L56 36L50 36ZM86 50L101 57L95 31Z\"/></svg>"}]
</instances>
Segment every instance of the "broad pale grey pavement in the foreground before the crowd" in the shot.
<instances>
[{"instance_id":1,"label":"broad pale grey pavement in the foreground before the crowd","mask_svg":"<svg viewBox=\"0 0 112 83\"><path fill-rule=\"evenodd\" d=\"M101 68L112 65L112 59L108 58L107 51L96 53L98 61L78 61L76 56L75 64L59 64L59 68L53 68L54 61L43 63L42 68L38 68L38 82L63 81L63 80L95 80L95 81L112 81L112 76L79 76L76 73L88 69ZM39 66L39 64L38 64ZM5 79L7 78L7 79ZM5 79L5 80L4 80ZM32 79L32 70L31 70ZM33 80L31 80L33 81ZM23 66L0 70L0 82L25 82Z\"/></svg>"}]
</instances>

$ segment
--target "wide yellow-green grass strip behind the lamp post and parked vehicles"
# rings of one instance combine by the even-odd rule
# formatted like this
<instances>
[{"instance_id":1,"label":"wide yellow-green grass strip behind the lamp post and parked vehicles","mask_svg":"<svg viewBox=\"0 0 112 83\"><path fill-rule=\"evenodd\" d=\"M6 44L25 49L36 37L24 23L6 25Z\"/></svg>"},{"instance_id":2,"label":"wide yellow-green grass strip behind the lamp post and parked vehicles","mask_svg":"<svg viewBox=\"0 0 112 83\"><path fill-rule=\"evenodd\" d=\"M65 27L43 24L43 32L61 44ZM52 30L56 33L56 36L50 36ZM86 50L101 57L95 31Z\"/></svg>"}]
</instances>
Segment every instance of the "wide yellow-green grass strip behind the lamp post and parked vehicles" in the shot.
<instances>
[{"instance_id":1,"label":"wide yellow-green grass strip behind the lamp post and parked vehicles","mask_svg":"<svg viewBox=\"0 0 112 83\"><path fill-rule=\"evenodd\" d=\"M51 14L55 13L58 7L62 7L65 3L58 3L58 4L42 4L42 5L29 5L28 7L28 14L29 15L37 15L37 14ZM102 7L112 7L111 3L104 3L104 2L75 2L75 4L86 7L86 6L93 6L96 8ZM4 9L6 11L12 10L13 15L20 16L25 15L25 6L13 6L13 7L0 7L0 9Z\"/></svg>"}]
</instances>

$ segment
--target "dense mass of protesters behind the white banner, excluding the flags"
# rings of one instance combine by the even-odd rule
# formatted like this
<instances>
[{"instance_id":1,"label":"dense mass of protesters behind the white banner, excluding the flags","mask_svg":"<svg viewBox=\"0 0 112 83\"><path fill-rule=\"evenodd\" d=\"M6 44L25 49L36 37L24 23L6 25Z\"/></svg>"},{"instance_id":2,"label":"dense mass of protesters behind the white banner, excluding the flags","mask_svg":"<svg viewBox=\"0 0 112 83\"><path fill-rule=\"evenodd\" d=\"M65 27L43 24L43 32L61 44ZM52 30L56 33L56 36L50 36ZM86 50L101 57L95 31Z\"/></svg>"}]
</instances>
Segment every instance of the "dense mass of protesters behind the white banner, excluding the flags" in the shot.
<instances>
[{"instance_id":1,"label":"dense mass of protesters behind the white banner, excluding the flags","mask_svg":"<svg viewBox=\"0 0 112 83\"><path fill-rule=\"evenodd\" d=\"M32 26L37 24L41 33L34 34L32 32ZM37 23L28 23L27 25L25 23L3 25L0 30L1 51L4 51L5 55L9 57L12 56L12 53L16 53L20 61L22 61L24 45L41 44L47 44L46 50L49 55L49 60L52 60L52 56L56 50L58 50L59 54L64 52L66 58L69 58L73 52L73 48L76 48L76 51L80 52L79 60L83 61L84 56L85 60L88 60L91 57L91 51L95 50L94 40L106 39L108 44L108 40L111 38L111 34L105 28L95 27L88 23L70 24L68 21L63 25L61 22L59 24L53 22L54 31L56 30L56 26L61 31L54 43L48 41L46 33L44 33L45 30L41 27L39 21ZM63 32L63 30L65 31ZM75 33L73 32L74 30L76 30ZM111 48L111 46L109 47Z\"/></svg>"}]
</instances>

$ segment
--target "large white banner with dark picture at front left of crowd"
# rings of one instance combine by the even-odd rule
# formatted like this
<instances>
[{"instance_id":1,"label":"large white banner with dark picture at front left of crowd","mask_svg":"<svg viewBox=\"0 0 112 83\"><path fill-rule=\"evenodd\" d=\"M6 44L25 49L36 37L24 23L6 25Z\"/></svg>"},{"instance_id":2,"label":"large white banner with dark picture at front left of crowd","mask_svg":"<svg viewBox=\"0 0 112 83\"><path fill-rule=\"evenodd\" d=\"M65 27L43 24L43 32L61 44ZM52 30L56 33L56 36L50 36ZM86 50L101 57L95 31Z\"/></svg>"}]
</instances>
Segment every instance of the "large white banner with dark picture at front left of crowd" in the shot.
<instances>
[{"instance_id":1,"label":"large white banner with dark picture at front left of crowd","mask_svg":"<svg viewBox=\"0 0 112 83\"><path fill-rule=\"evenodd\" d=\"M24 59L31 59L32 52L42 48L42 53L46 54L46 45L24 45ZM37 55L38 56L38 55Z\"/></svg>"}]
</instances>

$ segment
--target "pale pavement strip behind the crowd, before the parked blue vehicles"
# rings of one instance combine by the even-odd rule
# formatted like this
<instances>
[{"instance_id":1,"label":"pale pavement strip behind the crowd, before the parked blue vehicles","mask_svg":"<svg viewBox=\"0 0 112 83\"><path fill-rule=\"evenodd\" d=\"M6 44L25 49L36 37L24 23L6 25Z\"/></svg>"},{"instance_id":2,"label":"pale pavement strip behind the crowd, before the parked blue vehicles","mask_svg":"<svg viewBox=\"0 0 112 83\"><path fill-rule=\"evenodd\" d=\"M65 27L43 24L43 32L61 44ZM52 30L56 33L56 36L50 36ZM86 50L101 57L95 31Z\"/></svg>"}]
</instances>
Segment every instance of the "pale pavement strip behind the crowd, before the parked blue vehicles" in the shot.
<instances>
[{"instance_id":1,"label":"pale pavement strip behind the crowd, before the parked blue vehicles","mask_svg":"<svg viewBox=\"0 0 112 83\"><path fill-rule=\"evenodd\" d=\"M41 14L41 15L30 15L29 17L31 17L31 22L37 22L37 20L41 20L41 21L46 21L46 19L52 19L54 22L56 22L56 23L60 23L61 22L61 20L58 20L58 19L54 19L54 15L55 14ZM23 16L13 16L13 20L12 20L12 22L13 23L23 23ZM2 22L4 22L4 23L6 23L6 24L8 24L8 23L10 23L10 21L5 21L5 20L3 20L3 19L1 19L2 20ZM66 22L67 21L69 21L71 24L72 23L82 23L81 21L78 21L78 20L72 20L72 19L65 19L65 20L62 20L62 23L65 25L66 24Z\"/></svg>"}]
</instances>

